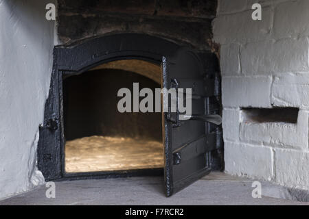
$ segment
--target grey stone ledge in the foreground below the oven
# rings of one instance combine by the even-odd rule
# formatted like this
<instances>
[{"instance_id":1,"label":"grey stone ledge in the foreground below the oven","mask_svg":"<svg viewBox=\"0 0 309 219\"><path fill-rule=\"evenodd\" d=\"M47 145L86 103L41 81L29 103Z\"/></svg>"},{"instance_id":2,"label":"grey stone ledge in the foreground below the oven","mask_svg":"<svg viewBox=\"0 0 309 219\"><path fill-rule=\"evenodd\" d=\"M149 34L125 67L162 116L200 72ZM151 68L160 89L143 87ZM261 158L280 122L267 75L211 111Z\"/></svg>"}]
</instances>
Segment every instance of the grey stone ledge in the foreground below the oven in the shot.
<instances>
[{"instance_id":1,"label":"grey stone ledge in the foreground below the oven","mask_svg":"<svg viewBox=\"0 0 309 219\"><path fill-rule=\"evenodd\" d=\"M56 198L46 198L41 186L0 201L0 205L309 205L286 199L262 196L252 198L252 181L214 172L188 188L166 198L162 177L132 177L56 182ZM282 190L262 183L270 196Z\"/></svg>"}]
</instances>

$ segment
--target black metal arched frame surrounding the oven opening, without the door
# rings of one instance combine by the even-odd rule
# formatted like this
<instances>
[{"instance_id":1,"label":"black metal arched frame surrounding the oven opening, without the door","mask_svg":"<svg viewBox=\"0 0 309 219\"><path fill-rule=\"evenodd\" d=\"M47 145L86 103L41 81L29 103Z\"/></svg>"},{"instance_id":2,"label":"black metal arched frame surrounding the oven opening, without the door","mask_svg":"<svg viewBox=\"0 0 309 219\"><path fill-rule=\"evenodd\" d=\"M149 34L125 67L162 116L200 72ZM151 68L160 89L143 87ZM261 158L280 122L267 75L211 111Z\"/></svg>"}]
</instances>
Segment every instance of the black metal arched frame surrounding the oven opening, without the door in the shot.
<instances>
[{"instance_id":1,"label":"black metal arched frame surrounding the oven opening, without the door","mask_svg":"<svg viewBox=\"0 0 309 219\"><path fill-rule=\"evenodd\" d=\"M49 181L163 175L163 168L65 172L62 77L80 74L94 66L115 60L138 59L160 64L163 56L174 53L181 46L183 45L145 34L113 34L55 47L49 98L45 103L44 124L40 127L38 142L38 168L43 172L45 179ZM216 59L209 51L200 51L200 53ZM209 65L205 70L207 68Z\"/></svg>"}]
</instances>

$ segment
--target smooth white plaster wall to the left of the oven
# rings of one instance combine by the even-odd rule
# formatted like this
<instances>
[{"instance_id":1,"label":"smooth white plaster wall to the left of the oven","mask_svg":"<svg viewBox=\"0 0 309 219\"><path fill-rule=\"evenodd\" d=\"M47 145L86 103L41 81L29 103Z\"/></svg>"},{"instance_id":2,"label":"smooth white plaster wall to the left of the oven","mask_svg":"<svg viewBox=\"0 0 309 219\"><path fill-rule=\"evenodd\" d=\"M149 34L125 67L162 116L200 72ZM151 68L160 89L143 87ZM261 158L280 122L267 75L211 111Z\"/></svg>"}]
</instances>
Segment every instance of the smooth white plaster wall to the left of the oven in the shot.
<instances>
[{"instance_id":1,"label":"smooth white plaster wall to the left of the oven","mask_svg":"<svg viewBox=\"0 0 309 219\"><path fill-rule=\"evenodd\" d=\"M47 3L54 0L0 0L0 198L44 182L36 146L52 73Z\"/></svg>"}]
</instances>

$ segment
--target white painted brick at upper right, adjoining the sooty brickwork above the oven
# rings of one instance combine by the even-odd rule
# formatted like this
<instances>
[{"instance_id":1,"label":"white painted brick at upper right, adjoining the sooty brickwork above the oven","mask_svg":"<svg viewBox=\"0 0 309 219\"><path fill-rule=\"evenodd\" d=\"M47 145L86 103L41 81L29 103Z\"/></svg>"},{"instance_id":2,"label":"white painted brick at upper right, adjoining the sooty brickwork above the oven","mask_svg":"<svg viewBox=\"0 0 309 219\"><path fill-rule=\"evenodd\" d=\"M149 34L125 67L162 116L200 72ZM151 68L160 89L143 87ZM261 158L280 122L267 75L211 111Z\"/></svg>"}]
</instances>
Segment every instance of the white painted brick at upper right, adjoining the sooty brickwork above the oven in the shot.
<instances>
[{"instance_id":1,"label":"white painted brick at upper right, adjoining the sooty brickwork above the oven","mask_svg":"<svg viewBox=\"0 0 309 219\"><path fill-rule=\"evenodd\" d=\"M214 19L214 40L220 44L254 42L271 38L271 8L263 8L262 21L253 21L252 11L221 15Z\"/></svg>"}]
</instances>

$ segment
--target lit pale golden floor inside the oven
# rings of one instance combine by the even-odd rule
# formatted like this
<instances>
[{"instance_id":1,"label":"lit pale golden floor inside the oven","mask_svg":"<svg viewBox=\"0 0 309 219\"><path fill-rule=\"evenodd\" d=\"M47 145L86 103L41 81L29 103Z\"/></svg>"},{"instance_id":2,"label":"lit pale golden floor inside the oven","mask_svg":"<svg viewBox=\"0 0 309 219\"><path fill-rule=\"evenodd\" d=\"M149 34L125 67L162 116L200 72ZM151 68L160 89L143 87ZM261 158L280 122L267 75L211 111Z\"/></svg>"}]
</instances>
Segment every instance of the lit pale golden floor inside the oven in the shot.
<instances>
[{"instance_id":1,"label":"lit pale golden floor inside the oven","mask_svg":"<svg viewBox=\"0 0 309 219\"><path fill-rule=\"evenodd\" d=\"M66 172L162 167L163 145L153 140L91 136L65 144Z\"/></svg>"}]
</instances>

